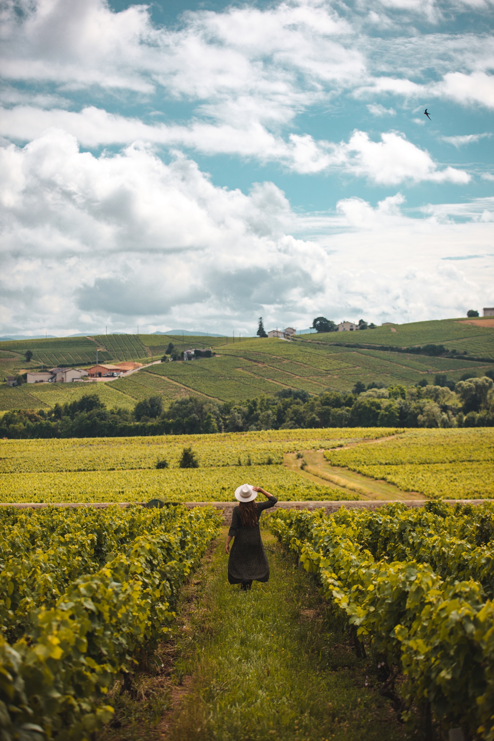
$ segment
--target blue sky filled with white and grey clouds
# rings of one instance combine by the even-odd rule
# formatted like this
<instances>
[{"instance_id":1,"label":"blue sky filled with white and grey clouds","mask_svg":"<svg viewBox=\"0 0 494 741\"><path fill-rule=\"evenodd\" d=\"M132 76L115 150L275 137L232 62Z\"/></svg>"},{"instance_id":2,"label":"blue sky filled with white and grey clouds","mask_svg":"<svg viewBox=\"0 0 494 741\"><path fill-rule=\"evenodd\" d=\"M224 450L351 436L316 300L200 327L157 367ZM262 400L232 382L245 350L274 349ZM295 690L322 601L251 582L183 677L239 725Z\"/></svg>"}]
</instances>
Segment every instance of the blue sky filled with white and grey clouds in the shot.
<instances>
[{"instance_id":1,"label":"blue sky filled with white and grey clouds","mask_svg":"<svg viewBox=\"0 0 494 741\"><path fill-rule=\"evenodd\" d=\"M494 0L0 7L1 334L494 305Z\"/></svg>"}]
</instances>

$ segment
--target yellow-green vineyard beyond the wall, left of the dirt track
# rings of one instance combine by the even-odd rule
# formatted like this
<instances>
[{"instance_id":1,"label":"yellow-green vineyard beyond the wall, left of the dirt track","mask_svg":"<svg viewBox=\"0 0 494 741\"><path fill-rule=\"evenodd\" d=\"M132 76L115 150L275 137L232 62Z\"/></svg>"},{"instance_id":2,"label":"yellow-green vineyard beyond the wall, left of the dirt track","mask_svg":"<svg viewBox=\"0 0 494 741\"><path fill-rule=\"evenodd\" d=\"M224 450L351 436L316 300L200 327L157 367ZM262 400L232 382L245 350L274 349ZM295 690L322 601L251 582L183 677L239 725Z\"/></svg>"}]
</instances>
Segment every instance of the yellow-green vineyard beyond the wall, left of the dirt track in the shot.
<instances>
[{"instance_id":1,"label":"yellow-green vineyard beyond the wall, left of the dirt track","mask_svg":"<svg viewBox=\"0 0 494 741\"><path fill-rule=\"evenodd\" d=\"M390 428L280 430L216 435L3 440L0 502L231 501L247 479L285 500L357 499L282 465L286 452L393 434ZM192 445L199 468L178 468ZM156 469L158 459L170 468ZM240 465L239 465L240 463Z\"/></svg>"}]
</instances>

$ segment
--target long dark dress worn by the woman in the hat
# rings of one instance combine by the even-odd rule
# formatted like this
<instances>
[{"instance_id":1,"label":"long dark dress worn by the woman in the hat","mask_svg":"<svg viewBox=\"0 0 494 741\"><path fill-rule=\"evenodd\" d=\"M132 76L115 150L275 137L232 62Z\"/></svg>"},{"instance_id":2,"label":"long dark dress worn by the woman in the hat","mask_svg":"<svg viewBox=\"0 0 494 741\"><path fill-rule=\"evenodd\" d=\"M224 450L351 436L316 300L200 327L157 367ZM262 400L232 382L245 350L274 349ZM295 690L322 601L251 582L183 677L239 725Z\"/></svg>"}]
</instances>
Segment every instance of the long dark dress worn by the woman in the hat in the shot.
<instances>
[{"instance_id":1,"label":"long dark dress worn by the woman in the hat","mask_svg":"<svg viewBox=\"0 0 494 741\"><path fill-rule=\"evenodd\" d=\"M257 502L257 525L253 528L244 528L240 519L238 507L233 508L232 524L228 534L231 535L233 545L228 558L228 581L230 584L241 582L267 582L270 578L270 565L261 540L259 517L262 511L274 507L278 502L276 496L270 496L267 502Z\"/></svg>"}]
</instances>

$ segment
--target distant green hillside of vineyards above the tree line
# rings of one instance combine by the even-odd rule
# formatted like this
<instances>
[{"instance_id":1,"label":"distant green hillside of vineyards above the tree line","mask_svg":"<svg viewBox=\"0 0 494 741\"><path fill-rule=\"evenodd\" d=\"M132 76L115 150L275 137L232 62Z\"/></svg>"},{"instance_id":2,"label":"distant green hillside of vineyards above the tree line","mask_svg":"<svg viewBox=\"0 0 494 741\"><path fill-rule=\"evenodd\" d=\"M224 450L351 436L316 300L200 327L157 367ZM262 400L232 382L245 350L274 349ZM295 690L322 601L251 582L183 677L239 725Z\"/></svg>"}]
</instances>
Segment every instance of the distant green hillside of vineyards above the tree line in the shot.
<instances>
[{"instance_id":1,"label":"distant green hillside of vineyards above the tree line","mask_svg":"<svg viewBox=\"0 0 494 741\"><path fill-rule=\"evenodd\" d=\"M481 322L481 320L480 320ZM491 322L489 322L491 323ZM487 322L486 322L487 324ZM395 330L395 331L392 331ZM197 393L221 401L236 401L260 394L273 394L283 388L302 389L311 394L330 389L350 391L357 381L391 385L411 385L420 379L433 380L435 373L447 373L458 381L470 372L484 375L494 367L494 328L473 325L460 319L386 325L375 330L353 333L327 333L297 336L292 342L282 339L254 339L168 336L168 335L97 335L94 338L2 342L0 345L0 379L16 368L25 369L24 353L33 350L30 363L44 365L90 365L96 359L118 362L161 356L173 342L180 353L186 348L213 348L216 356L193 362L152 365L124 379L107 384L27 385L7 388L0 384L0 410L41 408L56 401L70 400L87 393L98 393L109 406L130 408L137 401L158 394L167 406L173 399ZM395 348L417 345L444 345L457 350L457 356L427 356L398 352ZM358 347L366 345L367 348ZM461 353L466 350L468 357ZM13 356L15 359L13 359ZM470 356L493 359L476 362ZM87 361L84 362L84 358ZM431 375L432 374L432 375Z\"/></svg>"}]
</instances>

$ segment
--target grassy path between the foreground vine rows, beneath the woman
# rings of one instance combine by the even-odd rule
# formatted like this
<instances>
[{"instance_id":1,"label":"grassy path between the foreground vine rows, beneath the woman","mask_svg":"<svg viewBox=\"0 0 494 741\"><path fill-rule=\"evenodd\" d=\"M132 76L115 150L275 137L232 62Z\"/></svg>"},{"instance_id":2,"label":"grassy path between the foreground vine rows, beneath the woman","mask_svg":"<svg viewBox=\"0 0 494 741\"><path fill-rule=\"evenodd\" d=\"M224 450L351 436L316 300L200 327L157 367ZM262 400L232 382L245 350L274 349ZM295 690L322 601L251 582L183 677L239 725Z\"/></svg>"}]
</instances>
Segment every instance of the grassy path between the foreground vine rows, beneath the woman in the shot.
<instances>
[{"instance_id":1,"label":"grassy path between the foreground vine rows, beneath the woman","mask_svg":"<svg viewBox=\"0 0 494 741\"><path fill-rule=\"evenodd\" d=\"M371 660L356 658L313 579L272 535L263 530L262 537L270 561L267 584L254 582L247 594L228 584L222 537L182 591L175 636L156 662L166 665L167 654L173 661L167 688L158 681L165 693L161 720L136 722L130 705L136 713L138 702L124 696L117 707L124 722L101 739L407 738L375 688Z\"/></svg>"}]
</instances>

